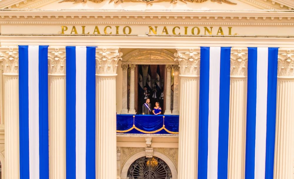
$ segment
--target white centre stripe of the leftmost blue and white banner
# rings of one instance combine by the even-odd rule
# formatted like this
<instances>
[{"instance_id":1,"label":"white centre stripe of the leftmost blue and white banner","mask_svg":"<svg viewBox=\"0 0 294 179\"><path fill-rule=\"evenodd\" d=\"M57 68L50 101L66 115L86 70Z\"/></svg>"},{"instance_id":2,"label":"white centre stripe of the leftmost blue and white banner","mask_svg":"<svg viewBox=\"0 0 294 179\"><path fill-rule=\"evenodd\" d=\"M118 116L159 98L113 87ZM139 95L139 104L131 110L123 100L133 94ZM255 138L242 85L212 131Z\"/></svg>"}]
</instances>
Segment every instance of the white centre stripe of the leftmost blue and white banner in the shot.
<instances>
[{"instance_id":1,"label":"white centre stripe of the leftmost blue and white banner","mask_svg":"<svg viewBox=\"0 0 294 179\"><path fill-rule=\"evenodd\" d=\"M39 179L39 46L29 46L28 51L29 172L30 179Z\"/></svg>"}]
</instances>

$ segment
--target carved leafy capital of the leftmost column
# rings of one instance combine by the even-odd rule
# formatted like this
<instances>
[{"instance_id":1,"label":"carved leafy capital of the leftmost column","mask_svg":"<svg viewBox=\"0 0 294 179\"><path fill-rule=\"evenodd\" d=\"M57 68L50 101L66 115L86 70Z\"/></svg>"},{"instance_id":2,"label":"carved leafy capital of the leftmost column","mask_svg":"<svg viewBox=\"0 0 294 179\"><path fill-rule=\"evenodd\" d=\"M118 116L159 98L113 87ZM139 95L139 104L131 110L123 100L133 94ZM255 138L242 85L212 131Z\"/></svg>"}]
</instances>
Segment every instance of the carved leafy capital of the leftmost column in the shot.
<instances>
[{"instance_id":1,"label":"carved leafy capital of the leftmost column","mask_svg":"<svg viewBox=\"0 0 294 179\"><path fill-rule=\"evenodd\" d=\"M7 52L0 52L0 59L3 60L4 73L19 73L19 56L18 51L9 48Z\"/></svg>"}]
</instances>

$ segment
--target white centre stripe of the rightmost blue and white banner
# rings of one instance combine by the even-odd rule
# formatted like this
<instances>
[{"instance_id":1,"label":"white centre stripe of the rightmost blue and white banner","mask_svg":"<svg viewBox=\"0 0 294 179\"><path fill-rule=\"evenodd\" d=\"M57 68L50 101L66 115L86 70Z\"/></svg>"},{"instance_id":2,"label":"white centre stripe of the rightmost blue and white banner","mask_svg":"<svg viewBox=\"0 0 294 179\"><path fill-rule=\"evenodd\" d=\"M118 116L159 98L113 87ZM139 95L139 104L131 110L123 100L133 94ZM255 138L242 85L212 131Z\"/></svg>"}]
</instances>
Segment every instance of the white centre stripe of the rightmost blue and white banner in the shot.
<instances>
[{"instance_id":1,"label":"white centre stripe of the rightmost blue and white banner","mask_svg":"<svg viewBox=\"0 0 294 179\"><path fill-rule=\"evenodd\" d=\"M268 48L257 48L255 179L265 178Z\"/></svg>"}]
</instances>

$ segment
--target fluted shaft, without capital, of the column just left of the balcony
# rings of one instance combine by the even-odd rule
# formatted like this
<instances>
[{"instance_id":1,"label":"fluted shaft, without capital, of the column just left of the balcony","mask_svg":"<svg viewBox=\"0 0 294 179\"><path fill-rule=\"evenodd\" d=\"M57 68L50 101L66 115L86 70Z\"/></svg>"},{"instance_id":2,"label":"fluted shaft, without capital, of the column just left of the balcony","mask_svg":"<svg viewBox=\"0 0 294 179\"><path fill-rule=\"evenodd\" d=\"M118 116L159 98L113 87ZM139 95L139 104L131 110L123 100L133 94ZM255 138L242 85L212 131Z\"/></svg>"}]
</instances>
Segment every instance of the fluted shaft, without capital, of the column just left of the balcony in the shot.
<instances>
[{"instance_id":1,"label":"fluted shaft, without capital, of the column just left of the balcony","mask_svg":"<svg viewBox=\"0 0 294 179\"><path fill-rule=\"evenodd\" d=\"M96 84L96 179L116 179L116 74Z\"/></svg>"}]
</instances>

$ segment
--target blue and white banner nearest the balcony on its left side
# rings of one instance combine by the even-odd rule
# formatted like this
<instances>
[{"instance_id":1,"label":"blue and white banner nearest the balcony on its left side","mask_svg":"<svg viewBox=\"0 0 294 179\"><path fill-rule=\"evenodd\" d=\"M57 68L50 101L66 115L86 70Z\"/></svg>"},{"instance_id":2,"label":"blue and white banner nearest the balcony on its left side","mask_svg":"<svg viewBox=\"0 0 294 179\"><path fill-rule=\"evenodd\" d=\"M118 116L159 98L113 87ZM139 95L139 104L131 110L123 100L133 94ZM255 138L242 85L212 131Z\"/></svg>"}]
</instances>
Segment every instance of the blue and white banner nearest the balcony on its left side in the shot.
<instances>
[{"instance_id":1,"label":"blue and white banner nearest the balcony on its left side","mask_svg":"<svg viewBox=\"0 0 294 179\"><path fill-rule=\"evenodd\" d=\"M66 47L66 178L95 178L96 47Z\"/></svg>"}]
</instances>

